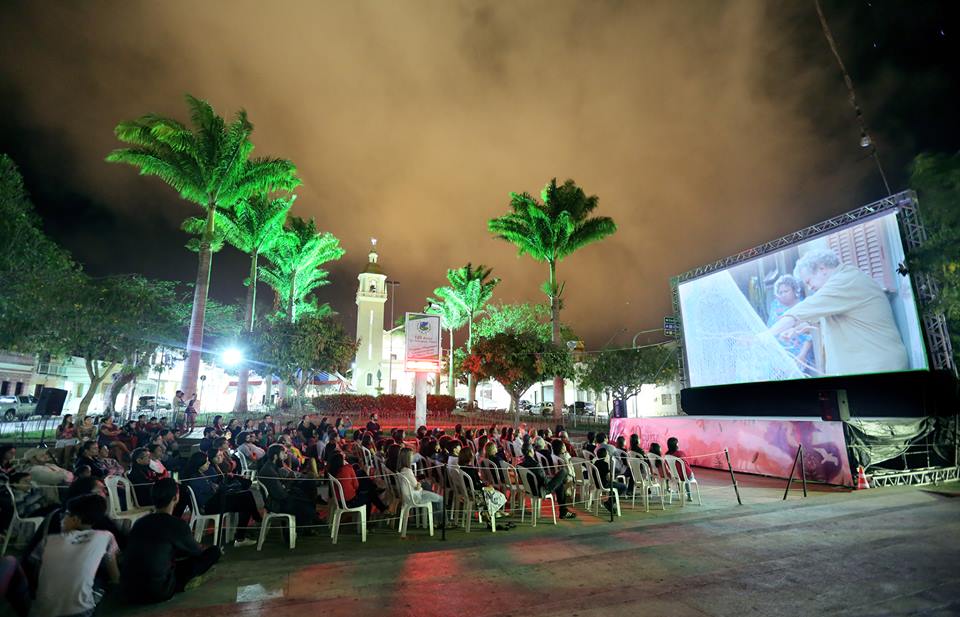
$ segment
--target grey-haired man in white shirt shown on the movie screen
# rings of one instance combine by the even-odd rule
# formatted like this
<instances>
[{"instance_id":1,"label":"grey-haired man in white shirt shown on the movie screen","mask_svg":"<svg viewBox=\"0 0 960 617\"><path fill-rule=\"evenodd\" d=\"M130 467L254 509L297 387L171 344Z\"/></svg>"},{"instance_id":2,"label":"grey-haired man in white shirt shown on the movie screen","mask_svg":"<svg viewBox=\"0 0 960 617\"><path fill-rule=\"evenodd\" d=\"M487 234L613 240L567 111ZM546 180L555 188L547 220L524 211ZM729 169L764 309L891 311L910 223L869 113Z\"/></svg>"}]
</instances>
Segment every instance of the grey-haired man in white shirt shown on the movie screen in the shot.
<instances>
[{"instance_id":1,"label":"grey-haired man in white shirt shown on the movie screen","mask_svg":"<svg viewBox=\"0 0 960 617\"><path fill-rule=\"evenodd\" d=\"M902 371L907 350L880 285L829 249L805 253L794 267L807 297L784 312L768 332L790 337L820 321L827 375Z\"/></svg>"}]
</instances>

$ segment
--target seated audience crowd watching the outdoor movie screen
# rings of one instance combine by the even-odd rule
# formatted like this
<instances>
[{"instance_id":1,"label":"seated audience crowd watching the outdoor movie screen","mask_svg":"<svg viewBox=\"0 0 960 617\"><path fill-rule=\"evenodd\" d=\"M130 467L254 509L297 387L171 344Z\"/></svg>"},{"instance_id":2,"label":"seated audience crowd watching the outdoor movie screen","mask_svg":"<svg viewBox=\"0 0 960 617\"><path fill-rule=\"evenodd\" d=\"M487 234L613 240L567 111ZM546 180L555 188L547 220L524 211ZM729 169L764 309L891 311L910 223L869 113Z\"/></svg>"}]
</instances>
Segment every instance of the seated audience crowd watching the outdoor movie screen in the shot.
<instances>
[{"instance_id":1,"label":"seated audience crowd watching the outdoor movie screen","mask_svg":"<svg viewBox=\"0 0 960 617\"><path fill-rule=\"evenodd\" d=\"M406 498L430 504L442 524L456 525L440 516L444 505L456 510L456 491L444 473L456 468L469 479L489 527L508 516L505 487L518 482L501 465L507 461L529 472L539 496L554 495L561 519L573 519L573 457L592 452L604 486L623 492L633 483L626 452L643 452L637 435L629 445L623 437L610 444L603 433L574 444L562 426L457 425L449 433L420 427L408 437L403 429L384 431L376 414L358 428L345 418L279 423L266 415L224 423L216 416L191 446L181 444L178 428L144 416L119 427L109 416L97 424L88 416L77 427L65 416L55 449L31 449L18 458L14 447L0 447L0 482L10 489L0 491L6 518L0 529L7 528L13 508L21 518L43 519L21 559L5 558L0 569L18 614L27 614L31 604L31 615L92 614L117 581L132 603L164 601L200 584L223 549L194 539L184 516L191 501L198 514L236 515L234 547L256 543L250 531L265 512L293 515L298 533L324 533L320 514L334 499L330 478L342 487L347 507L365 507L368 518L395 517ZM651 451L659 446L652 444ZM684 456L674 438L668 453ZM134 503L121 507L152 509L129 529L108 515L105 480L112 475L133 488ZM611 507L610 500L604 503ZM501 521L497 528L512 526Z\"/></svg>"}]
</instances>

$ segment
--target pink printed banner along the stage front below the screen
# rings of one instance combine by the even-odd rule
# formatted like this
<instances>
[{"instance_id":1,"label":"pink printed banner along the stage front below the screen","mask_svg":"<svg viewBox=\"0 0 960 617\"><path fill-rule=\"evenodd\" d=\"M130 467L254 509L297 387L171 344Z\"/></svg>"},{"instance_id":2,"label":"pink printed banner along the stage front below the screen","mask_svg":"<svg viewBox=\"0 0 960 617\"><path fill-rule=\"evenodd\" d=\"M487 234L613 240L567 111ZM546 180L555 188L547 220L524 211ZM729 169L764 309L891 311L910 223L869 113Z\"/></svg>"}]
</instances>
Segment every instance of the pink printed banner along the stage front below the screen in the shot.
<instances>
[{"instance_id":1,"label":"pink printed banner along the stage front below the screen","mask_svg":"<svg viewBox=\"0 0 960 617\"><path fill-rule=\"evenodd\" d=\"M807 419L716 418L667 416L657 418L614 418L610 440L637 433L644 450L659 443L667 451L667 439L680 440L680 449L700 467L726 469L724 448L730 451L734 471L788 478L797 446L803 444L804 469L808 480L827 484L852 485L850 463L842 422ZM795 478L799 478L799 470Z\"/></svg>"}]
</instances>

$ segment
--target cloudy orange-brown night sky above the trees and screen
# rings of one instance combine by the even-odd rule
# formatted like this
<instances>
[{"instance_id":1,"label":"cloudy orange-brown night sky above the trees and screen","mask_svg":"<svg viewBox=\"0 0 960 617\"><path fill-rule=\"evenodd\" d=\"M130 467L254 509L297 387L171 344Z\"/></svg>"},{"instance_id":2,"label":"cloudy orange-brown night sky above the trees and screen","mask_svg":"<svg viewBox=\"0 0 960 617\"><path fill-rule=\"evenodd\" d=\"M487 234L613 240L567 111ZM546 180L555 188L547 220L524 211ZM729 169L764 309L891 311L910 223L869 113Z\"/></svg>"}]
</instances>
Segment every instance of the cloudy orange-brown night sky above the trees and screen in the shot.
<instances>
[{"instance_id":1,"label":"cloudy orange-brown night sky above the trees and screen","mask_svg":"<svg viewBox=\"0 0 960 617\"><path fill-rule=\"evenodd\" d=\"M916 153L960 147L960 3L823 6L906 188ZM467 261L496 299L542 301L546 266L486 221L554 176L620 227L559 268L588 348L658 326L671 275L884 194L809 1L0 5L0 150L92 274L194 279L178 229L199 210L103 161L120 120L186 121L185 92L245 108L256 154L297 164L294 213L347 250L321 298L350 329L371 236L398 314ZM216 255L213 296L239 298L246 264Z\"/></svg>"}]
</instances>

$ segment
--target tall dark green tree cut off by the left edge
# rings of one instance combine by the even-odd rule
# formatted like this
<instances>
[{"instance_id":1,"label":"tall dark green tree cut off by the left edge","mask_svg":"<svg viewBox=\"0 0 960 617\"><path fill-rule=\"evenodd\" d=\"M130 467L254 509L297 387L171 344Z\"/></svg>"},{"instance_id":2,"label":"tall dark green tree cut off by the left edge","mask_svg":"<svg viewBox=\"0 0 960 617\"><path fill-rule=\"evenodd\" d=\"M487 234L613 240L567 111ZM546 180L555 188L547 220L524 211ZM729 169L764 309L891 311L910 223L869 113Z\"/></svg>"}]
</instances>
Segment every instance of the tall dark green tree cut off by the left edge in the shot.
<instances>
[{"instance_id":1,"label":"tall dark green tree cut off by the left edge","mask_svg":"<svg viewBox=\"0 0 960 617\"><path fill-rule=\"evenodd\" d=\"M16 164L0 154L0 349L43 353L56 344L49 328L73 310L63 292L82 280L44 234Z\"/></svg>"}]
</instances>

